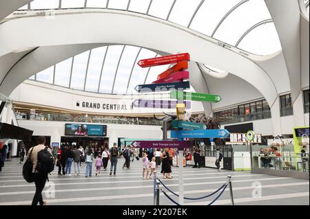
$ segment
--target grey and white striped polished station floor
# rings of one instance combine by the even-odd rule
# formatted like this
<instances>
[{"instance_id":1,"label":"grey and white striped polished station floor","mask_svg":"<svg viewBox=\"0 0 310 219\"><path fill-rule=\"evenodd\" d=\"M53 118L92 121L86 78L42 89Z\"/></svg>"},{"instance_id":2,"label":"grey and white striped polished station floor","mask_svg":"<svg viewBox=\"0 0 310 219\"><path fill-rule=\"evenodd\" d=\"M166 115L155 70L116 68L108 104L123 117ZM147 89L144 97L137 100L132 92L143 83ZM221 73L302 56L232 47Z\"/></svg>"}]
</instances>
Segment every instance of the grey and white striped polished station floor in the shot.
<instances>
[{"instance_id":1,"label":"grey and white striped polished station floor","mask_svg":"<svg viewBox=\"0 0 310 219\"><path fill-rule=\"evenodd\" d=\"M123 170L124 159L118 160L116 176L109 171L85 178L85 164L81 176L58 176L58 168L49 176L43 191L43 199L48 205L153 205L154 181L143 180L142 161L131 163L130 170ZM110 168L110 162L108 165ZM160 167L158 168L160 172ZM30 205L34 196L34 183L27 183L21 175L22 164L18 159L5 163L0 172L0 205ZM178 168L172 170L173 179L163 180L172 191L178 193ZM72 173L74 167L72 165ZM214 192L231 175L235 205L309 205L309 181L251 174L250 172L231 172L211 168L184 168L185 197L201 197ZM163 187L161 185L161 187ZM166 189L164 189L167 191ZM178 197L167 192L176 202ZM202 200L185 200L185 205L207 205L216 196ZM161 205L174 205L163 194ZM229 188L213 205L231 205Z\"/></svg>"}]
</instances>

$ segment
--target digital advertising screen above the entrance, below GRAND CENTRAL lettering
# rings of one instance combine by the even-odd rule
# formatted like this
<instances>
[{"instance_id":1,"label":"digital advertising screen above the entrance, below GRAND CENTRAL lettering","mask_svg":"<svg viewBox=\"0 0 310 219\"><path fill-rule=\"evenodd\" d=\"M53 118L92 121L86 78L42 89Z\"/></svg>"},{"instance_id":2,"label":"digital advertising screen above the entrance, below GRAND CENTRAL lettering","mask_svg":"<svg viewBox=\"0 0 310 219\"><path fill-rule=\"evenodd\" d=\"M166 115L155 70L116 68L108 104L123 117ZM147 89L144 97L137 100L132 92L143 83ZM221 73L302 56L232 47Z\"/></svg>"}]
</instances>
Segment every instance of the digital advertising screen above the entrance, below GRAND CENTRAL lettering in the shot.
<instances>
[{"instance_id":1,"label":"digital advertising screen above the entrance, below GRAND CENTRAL lettering","mask_svg":"<svg viewBox=\"0 0 310 219\"><path fill-rule=\"evenodd\" d=\"M107 126L92 124L65 124L65 135L107 136Z\"/></svg>"}]
</instances>

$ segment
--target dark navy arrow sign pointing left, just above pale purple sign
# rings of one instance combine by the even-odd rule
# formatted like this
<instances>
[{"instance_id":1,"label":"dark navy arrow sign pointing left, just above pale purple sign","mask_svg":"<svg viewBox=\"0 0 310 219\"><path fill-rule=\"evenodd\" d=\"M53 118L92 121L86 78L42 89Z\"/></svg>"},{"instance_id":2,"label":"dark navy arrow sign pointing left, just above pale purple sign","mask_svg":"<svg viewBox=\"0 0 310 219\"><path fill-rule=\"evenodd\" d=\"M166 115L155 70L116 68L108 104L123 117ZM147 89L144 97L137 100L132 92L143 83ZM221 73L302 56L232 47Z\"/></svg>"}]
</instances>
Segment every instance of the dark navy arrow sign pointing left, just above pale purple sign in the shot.
<instances>
[{"instance_id":1,"label":"dark navy arrow sign pointing left, just above pale purple sign","mask_svg":"<svg viewBox=\"0 0 310 219\"><path fill-rule=\"evenodd\" d=\"M137 85L134 89L138 93L158 92L158 91L171 91L178 89L189 89L189 82L174 82L174 83L163 83L163 84L141 84Z\"/></svg>"}]
</instances>

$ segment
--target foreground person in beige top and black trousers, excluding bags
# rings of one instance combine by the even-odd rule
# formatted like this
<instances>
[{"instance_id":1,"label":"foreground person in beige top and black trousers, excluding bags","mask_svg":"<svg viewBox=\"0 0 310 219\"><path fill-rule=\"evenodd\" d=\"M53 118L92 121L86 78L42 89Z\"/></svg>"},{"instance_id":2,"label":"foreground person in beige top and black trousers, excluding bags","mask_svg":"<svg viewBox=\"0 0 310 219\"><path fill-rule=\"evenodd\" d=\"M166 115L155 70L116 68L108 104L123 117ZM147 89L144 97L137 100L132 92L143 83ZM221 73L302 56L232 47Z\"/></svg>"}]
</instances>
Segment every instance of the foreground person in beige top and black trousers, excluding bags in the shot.
<instances>
[{"instance_id":1,"label":"foreground person in beige top and black trousers, excluding bags","mask_svg":"<svg viewBox=\"0 0 310 219\"><path fill-rule=\"evenodd\" d=\"M30 160L33 163L33 168L32 168L32 176L34 178L34 184L36 185L36 193L34 194L33 200L32 200L32 205L46 205L46 201L43 201L42 197L42 191L45 187L46 180L48 179L48 174L47 173L39 173L37 171L37 164L38 164L38 153L41 150L45 149L45 137L40 136L38 139L39 145L34 146L30 148L28 151L28 154L30 154ZM52 155L51 150L48 148L48 152Z\"/></svg>"}]
</instances>

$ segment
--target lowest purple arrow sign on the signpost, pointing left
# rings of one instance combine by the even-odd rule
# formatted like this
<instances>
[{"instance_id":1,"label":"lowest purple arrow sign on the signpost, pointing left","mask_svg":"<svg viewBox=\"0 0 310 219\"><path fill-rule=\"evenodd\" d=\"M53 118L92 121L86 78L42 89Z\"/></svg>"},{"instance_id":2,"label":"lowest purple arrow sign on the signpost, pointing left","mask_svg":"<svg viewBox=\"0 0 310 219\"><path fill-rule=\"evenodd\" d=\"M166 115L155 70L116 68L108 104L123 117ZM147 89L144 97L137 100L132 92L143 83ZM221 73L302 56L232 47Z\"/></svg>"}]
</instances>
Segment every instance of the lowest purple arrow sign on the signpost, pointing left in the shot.
<instances>
[{"instance_id":1,"label":"lowest purple arrow sign on the signpost, pointing left","mask_svg":"<svg viewBox=\"0 0 310 219\"><path fill-rule=\"evenodd\" d=\"M190 148L190 141L134 141L132 146L135 148Z\"/></svg>"}]
</instances>

